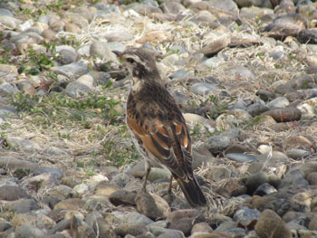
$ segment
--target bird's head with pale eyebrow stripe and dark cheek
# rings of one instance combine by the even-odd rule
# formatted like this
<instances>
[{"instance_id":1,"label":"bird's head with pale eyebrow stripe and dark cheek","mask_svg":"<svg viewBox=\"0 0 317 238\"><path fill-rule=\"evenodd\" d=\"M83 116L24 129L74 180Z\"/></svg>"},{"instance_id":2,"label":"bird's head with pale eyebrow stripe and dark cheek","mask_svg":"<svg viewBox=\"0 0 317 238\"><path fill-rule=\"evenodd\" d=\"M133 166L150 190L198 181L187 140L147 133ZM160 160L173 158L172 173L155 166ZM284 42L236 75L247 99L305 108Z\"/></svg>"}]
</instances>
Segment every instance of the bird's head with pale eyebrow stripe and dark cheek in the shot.
<instances>
[{"instance_id":1,"label":"bird's head with pale eyebrow stripe and dark cheek","mask_svg":"<svg viewBox=\"0 0 317 238\"><path fill-rule=\"evenodd\" d=\"M125 52L114 52L128 67L132 76L133 85L145 81L158 81L161 79L154 57L148 49L130 48Z\"/></svg>"}]
</instances>

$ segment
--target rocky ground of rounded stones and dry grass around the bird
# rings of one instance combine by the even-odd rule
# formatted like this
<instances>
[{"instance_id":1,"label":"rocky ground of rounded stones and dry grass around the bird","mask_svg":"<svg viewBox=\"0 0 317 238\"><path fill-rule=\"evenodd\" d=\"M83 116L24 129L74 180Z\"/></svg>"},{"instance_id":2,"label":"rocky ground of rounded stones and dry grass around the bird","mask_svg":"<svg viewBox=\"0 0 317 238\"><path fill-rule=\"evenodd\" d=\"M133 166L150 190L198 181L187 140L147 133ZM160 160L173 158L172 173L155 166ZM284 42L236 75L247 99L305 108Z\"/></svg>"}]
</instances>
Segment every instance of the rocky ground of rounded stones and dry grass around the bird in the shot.
<instances>
[{"instance_id":1,"label":"rocky ground of rounded stones and dry grass around the bird","mask_svg":"<svg viewBox=\"0 0 317 238\"><path fill-rule=\"evenodd\" d=\"M0 237L317 237L316 26L309 0L1 1ZM140 46L207 207L156 165L138 193L111 51Z\"/></svg>"}]
</instances>

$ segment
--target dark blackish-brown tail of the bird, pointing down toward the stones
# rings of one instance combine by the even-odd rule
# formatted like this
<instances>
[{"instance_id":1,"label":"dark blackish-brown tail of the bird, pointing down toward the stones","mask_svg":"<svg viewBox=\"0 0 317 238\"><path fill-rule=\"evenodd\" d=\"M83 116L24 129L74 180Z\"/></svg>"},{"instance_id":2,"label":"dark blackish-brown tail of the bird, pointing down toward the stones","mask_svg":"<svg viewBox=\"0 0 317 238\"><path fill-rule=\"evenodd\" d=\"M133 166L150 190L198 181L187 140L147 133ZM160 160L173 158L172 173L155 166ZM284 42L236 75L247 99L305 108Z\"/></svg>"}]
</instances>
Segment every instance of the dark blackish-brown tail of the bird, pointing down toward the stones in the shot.
<instances>
[{"instance_id":1,"label":"dark blackish-brown tail of the bird, pointing down toward the stones","mask_svg":"<svg viewBox=\"0 0 317 238\"><path fill-rule=\"evenodd\" d=\"M207 205L205 195L201 192L195 178L193 180L189 180L188 182L181 180L179 177L175 177L175 179L178 181L178 185L183 191L189 205Z\"/></svg>"}]
</instances>

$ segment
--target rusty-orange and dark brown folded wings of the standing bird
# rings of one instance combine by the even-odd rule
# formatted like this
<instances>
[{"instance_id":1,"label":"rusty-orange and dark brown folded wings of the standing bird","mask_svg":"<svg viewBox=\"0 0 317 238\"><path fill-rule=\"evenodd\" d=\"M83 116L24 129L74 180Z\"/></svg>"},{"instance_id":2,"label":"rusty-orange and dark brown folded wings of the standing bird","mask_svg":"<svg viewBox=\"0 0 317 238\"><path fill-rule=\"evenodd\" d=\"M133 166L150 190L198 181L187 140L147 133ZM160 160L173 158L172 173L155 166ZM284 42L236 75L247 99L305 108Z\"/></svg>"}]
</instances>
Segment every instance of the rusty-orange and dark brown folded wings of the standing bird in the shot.
<instances>
[{"instance_id":1,"label":"rusty-orange and dark brown folded wings of the standing bird","mask_svg":"<svg viewBox=\"0 0 317 238\"><path fill-rule=\"evenodd\" d=\"M180 117L174 117L172 123L164 123L159 117L142 120L133 115L128 115L127 123L152 157L179 178L187 180L193 178L191 143L185 120L181 112L178 113Z\"/></svg>"}]
</instances>

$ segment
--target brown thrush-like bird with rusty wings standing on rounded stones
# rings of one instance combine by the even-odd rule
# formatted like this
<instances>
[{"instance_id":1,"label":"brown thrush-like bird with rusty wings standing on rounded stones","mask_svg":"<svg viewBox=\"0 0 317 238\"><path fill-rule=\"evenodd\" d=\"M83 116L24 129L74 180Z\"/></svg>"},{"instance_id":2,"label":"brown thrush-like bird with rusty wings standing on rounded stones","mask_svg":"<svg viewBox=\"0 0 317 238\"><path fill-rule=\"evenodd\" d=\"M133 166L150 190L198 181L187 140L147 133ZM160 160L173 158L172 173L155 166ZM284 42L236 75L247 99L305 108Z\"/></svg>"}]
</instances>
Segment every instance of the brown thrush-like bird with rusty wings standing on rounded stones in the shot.
<instances>
[{"instance_id":1,"label":"brown thrush-like bird with rusty wings standing on rounded stones","mask_svg":"<svg viewBox=\"0 0 317 238\"><path fill-rule=\"evenodd\" d=\"M145 159L146 174L141 191L146 191L150 161L154 160L171 172L169 193L174 178L189 205L207 205L194 176L186 121L159 75L153 53L146 48L115 53L127 66L132 79L126 123L139 154Z\"/></svg>"}]
</instances>

